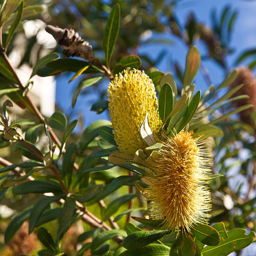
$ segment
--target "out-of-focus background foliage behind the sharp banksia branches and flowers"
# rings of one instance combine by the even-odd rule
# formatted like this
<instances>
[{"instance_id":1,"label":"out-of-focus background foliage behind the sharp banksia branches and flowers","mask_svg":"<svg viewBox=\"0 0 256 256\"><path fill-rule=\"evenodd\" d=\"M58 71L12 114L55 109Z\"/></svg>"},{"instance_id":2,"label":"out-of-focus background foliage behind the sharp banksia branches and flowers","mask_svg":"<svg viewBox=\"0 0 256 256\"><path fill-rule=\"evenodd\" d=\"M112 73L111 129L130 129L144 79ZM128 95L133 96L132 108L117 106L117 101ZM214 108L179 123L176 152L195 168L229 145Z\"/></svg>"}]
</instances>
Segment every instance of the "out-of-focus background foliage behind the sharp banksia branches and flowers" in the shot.
<instances>
[{"instance_id":1,"label":"out-of-focus background foliage behind the sharp banksia branches and flowers","mask_svg":"<svg viewBox=\"0 0 256 256\"><path fill-rule=\"evenodd\" d=\"M2 3L3 1L0 1ZM191 13L186 20L179 20L176 14L176 5L182 2L181 0L173 1L84 1L84 0L52 0L52 1L34 1L26 0L25 9L28 6L36 5L31 9L28 8L27 12L24 11L23 23L19 23L13 40L7 50L7 55L13 59L15 68L19 68L24 63L30 67L34 67L37 61L46 54L56 51L63 58L62 49L55 44L50 37L44 34L44 28L46 25L59 26L60 28L72 28L79 32L82 38L90 42L93 47L94 55L104 62L104 52L102 38L104 34L106 19L108 18L111 7L115 3L120 4L121 10L121 23L120 32L116 42L116 47L113 53L110 68L112 69L120 59L127 55L138 54L138 48L141 44L152 44L154 47L156 44L161 44L163 50L159 56L155 59L150 54L139 56L142 59L141 69L145 70L148 74L158 71L155 67L163 59L165 55L165 47L172 47L173 41L166 39L164 35L173 35L180 40L181 44L185 44L188 47L201 42L207 49L207 55L202 58L212 59L216 65L219 65L223 72L227 75L231 69L227 65L227 58L230 54L233 54L235 49L230 46L232 32L236 26L236 18L239 14L239 10L233 10L232 6L223 8L221 13L217 13L212 10L212 24L206 25L200 22L196 14ZM3 41L7 40L5 32L8 31L9 26L13 22L13 17L10 16L7 19L3 28ZM25 32L24 32L25 31ZM153 33L153 36L152 36ZM157 36L156 36L157 35ZM256 47L256 46L255 46ZM248 49L240 52L236 50L238 56L236 65L246 63L247 67L239 70L240 81L234 82L236 85L243 83L243 91L240 90L236 95L247 94L251 97L244 102L237 101L236 104L229 103L219 109L216 109L209 118L214 119L222 114L225 114L233 109L239 108L245 104L254 104L255 102L255 78L250 71L256 65L256 50ZM181 64L182 63L182 64ZM178 93L180 94L183 83L183 73L185 70L185 64L183 60L179 62L170 61L169 69L175 78L178 87ZM233 67L232 67L233 68ZM210 86L212 84L210 74L207 68L202 62L200 70L203 77ZM243 72L243 73L242 73ZM159 76L163 73L159 72ZM59 74L56 76L61 76ZM88 79L92 74L82 74L78 80L82 81ZM223 76L223 80L225 77ZM160 79L155 80L157 86ZM102 89L102 83L96 83L85 92L99 95L99 101L106 98L106 84L107 80L104 80L104 89ZM219 81L221 83L221 81ZM218 85L211 86L211 89L206 91L209 93L208 104L211 104L212 99L220 98L227 93L228 90L219 91L216 93L216 87ZM233 87L235 85L232 85ZM231 90L233 87L229 90ZM250 89L248 89L250 88ZM71 100L68 102L71 107ZM254 104L256 106L256 104ZM204 106L203 106L204 107ZM207 105L205 105L207 108ZM57 106L58 108L58 106ZM2 108L1 108L2 110ZM103 108L104 110L104 108ZM108 110L104 110L108 111ZM100 113L101 111L98 110ZM256 151L255 151L255 109L251 108L249 112L242 112L240 115L234 115L228 117L223 122L218 123L218 127L223 131L223 137L218 137L215 140L210 139L210 146L214 149L214 165L213 173L223 174L224 177L212 180L209 184L212 192L212 218L210 223L225 222L227 230L231 230L234 227L243 228L249 231L256 231L255 228L255 202L256 202L256 188L255 188L255 174L256 174ZM9 111L9 115L13 120L29 119L37 122L37 119L29 112L17 112L12 109ZM244 116L246 115L246 118ZM68 116L69 118L69 116ZM82 119L82 118L80 118ZM80 120L81 131L83 131L83 121ZM207 120L210 122L211 120ZM25 130L28 127L25 126ZM56 131L59 138L63 136L65 130ZM47 152L48 138L43 132L43 127L38 127L36 130L35 145L43 152ZM35 136L35 135L34 135ZM68 143L76 142L79 140L81 134L76 130L76 133L69 137ZM2 142L0 148L1 157L13 162L19 163L24 160L21 152L15 152L15 145L6 146L6 142ZM97 141L92 141L97 143ZM83 163L84 157L94 153L93 145L88 147L84 152L77 152L78 164ZM105 162L100 158L95 158L94 164L105 165ZM93 167L93 166L92 166ZM90 167L89 167L90 168ZM96 184L108 185L117 176L127 175L127 170L120 167L115 167L111 173L108 170L100 172L93 172L91 179L96 180ZM47 178L54 178L54 175L49 170L45 170L44 173L34 173L35 177L41 180ZM128 193L128 187L123 186L114 193L108 195L104 202L108 205L117 196L125 195ZM2 195L2 194L1 194ZM43 248L38 241L36 235L32 233L28 236L24 230L28 229L27 222L24 222L23 226L16 233L15 237L10 240L8 245L4 244L4 232L10 220L17 212L22 211L28 205L36 202L40 195L16 195L13 196L8 189L7 193L1 198L1 221L0 221L0 251L1 255L21 255L21 254L33 254L36 253L40 247ZM144 207L144 200L138 196L134 200L134 207ZM7 206L8 208L4 208ZM100 209L102 205L89 206L88 209L93 212L97 217L100 217ZM127 207L124 205L118 211L115 216L124 211ZM11 210L10 210L11 209ZM8 214L9 213L9 214ZM135 214L134 214L135 215ZM137 214L139 215L139 213ZM137 216L135 215L135 216ZM54 222L58 222L54 220ZM135 223L135 222L134 222ZM136 222L138 224L138 222ZM120 227L124 227L125 218L118 221ZM136 224L136 225L137 225ZM56 234L56 226L53 222L45 224L52 236ZM143 228L143 226L141 226ZM77 254L77 250L81 248L82 239L78 241L74 238L78 237L84 231L90 230L89 225L85 225L81 221L77 222L75 226L71 227L65 234L63 239L61 250L67 255L89 255L89 254ZM68 241L68 242L65 242ZM26 243L28 244L26 246ZM80 243L80 245L78 245ZM113 242L114 243L114 242ZM80 246L80 247L79 247ZM112 246L112 244L111 244ZM29 248L29 249L28 249ZM250 249L251 248L251 249ZM253 245L248 247L247 254L243 254L242 251L236 252L236 255L255 255L255 250L252 249ZM42 254L43 255L43 254ZM116 254L118 255L118 254Z\"/></svg>"}]
</instances>

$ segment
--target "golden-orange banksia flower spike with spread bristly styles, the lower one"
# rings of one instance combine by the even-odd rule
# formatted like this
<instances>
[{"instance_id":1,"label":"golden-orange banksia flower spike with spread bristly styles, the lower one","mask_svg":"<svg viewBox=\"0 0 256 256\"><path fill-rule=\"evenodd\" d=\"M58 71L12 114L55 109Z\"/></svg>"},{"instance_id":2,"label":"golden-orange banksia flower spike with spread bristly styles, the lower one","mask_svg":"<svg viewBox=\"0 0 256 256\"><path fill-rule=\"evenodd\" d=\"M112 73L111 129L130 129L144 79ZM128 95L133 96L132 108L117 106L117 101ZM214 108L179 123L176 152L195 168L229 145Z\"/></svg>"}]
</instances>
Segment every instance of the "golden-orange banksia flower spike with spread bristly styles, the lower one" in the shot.
<instances>
[{"instance_id":1,"label":"golden-orange banksia flower spike with spread bristly styles, the lower one","mask_svg":"<svg viewBox=\"0 0 256 256\"><path fill-rule=\"evenodd\" d=\"M212 152L204 139L181 131L157 150L159 159L150 165L157 181L146 189L152 217L164 219L163 229L190 230L194 223L207 223L211 196L205 179L211 174ZM150 175L149 175L150 176Z\"/></svg>"}]
</instances>

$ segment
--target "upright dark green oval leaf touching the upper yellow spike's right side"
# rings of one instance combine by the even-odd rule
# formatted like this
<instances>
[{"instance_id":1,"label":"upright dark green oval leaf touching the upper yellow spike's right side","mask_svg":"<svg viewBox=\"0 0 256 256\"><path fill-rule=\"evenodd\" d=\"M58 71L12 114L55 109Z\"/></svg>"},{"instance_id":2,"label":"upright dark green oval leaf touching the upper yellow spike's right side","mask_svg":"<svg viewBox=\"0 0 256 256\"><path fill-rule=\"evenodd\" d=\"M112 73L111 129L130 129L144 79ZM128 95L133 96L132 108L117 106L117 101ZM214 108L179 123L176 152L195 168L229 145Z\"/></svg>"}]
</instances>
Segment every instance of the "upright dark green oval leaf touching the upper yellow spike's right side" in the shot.
<instances>
[{"instance_id":1,"label":"upright dark green oval leaf touching the upper yellow spike's right side","mask_svg":"<svg viewBox=\"0 0 256 256\"><path fill-rule=\"evenodd\" d=\"M165 83L159 93L159 115L164 122L173 110L173 90L172 87Z\"/></svg>"}]
</instances>

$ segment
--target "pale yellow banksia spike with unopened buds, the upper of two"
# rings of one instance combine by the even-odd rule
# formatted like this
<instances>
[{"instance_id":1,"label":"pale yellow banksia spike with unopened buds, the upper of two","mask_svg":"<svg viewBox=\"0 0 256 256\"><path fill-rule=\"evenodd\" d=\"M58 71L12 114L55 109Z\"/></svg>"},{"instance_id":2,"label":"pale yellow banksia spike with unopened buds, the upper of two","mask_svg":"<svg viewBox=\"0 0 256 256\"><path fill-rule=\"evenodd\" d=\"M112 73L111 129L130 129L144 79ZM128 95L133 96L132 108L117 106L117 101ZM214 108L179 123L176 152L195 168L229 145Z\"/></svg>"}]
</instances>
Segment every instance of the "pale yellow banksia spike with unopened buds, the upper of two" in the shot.
<instances>
[{"instance_id":1,"label":"pale yellow banksia spike with unopened buds, the upper of two","mask_svg":"<svg viewBox=\"0 0 256 256\"><path fill-rule=\"evenodd\" d=\"M140 134L146 113L155 138L159 138L162 121L155 86L144 71L128 68L116 75L109 83L108 98L114 138L120 151L134 155L148 146Z\"/></svg>"}]
</instances>

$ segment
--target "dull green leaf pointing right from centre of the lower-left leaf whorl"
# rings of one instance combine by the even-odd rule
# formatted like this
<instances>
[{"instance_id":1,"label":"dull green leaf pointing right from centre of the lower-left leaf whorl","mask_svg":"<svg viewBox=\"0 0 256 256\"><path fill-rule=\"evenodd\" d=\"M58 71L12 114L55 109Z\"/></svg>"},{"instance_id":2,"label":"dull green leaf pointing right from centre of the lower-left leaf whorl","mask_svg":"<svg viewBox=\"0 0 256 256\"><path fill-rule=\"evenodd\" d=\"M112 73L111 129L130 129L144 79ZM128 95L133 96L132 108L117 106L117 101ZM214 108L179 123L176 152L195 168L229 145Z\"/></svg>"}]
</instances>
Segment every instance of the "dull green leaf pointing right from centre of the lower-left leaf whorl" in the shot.
<instances>
[{"instance_id":1,"label":"dull green leaf pointing right from centre of the lower-left leaf whorl","mask_svg":"<svg viewBox=\"0 0 256 256\"><path fill-rule=\"evenodd\" d=\"M95 198L103 189L103 185L93 185L87 188L81 189L80 191L73 193L74 199L80 203L88 202Z\"/></svg>"}]
</instances>

